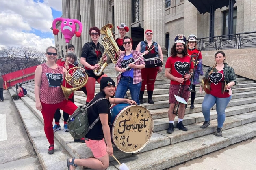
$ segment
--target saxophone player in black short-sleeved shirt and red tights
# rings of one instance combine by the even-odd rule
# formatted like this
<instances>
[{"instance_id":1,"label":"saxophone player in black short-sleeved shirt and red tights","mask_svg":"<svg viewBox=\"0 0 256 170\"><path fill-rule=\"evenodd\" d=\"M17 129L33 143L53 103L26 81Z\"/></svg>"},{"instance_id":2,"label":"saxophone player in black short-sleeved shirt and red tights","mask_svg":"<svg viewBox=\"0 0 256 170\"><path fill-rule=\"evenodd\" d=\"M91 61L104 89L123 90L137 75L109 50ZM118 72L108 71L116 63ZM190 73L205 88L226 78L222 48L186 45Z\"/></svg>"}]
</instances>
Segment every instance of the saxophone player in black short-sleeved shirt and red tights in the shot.
<instances>
[{"instance_id":1,"label":"saxophone player in black short-sleeved shirt and red tights","mask_svg":"<svg viewBox=\"0 0 256 170\"><path fill-rule=\"evenodd\" d=\"M100 29L98 27L92 27L89 30L89 34L91 35L91 42L85 43L84 47L82 47L81 54L81 64L85 66L85 69L88 73L88 82L85 87L87 89L87 99L86 104L91 102L95 93L95 83L96 81L100 83L100 79L102 77L107 77L104 72L100 76L96 76L93 73L94 69L100 68L98 62L101 57L103 60L107 60L107 56L102 54L104 53L104 47L101 45L98 40L100 38Z\"/></svg>"}]
</instances>

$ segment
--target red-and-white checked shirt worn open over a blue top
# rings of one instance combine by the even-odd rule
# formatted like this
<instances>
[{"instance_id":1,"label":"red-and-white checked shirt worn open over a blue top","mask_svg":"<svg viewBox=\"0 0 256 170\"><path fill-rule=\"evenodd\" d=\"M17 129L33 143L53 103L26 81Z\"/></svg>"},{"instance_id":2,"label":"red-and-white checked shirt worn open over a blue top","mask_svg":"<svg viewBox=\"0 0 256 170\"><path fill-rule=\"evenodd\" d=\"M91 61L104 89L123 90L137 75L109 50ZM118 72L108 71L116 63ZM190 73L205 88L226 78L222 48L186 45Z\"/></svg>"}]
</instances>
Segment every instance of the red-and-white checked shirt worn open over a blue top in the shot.
<instances>
[{"instance_id":1,"label":"red-and-white checked shirt worn open over a blue top","mask_svg":"<svg viewBox=\"0 0 256 170\"><path fill-rule=\"evenodd\" d=\"M135 50L132 50L131 53L132 53L132 56L133 56L134 60L137 60L142 55L141 52L135 51ZM117 63L115 64L115 67L122 68L121 67L121 61L124 60L124 55L125 55L125 53L122 53L121 55L119 55L119 58L117 60ZM141 57L137 62L135 62L135 64L136 65L145 64L144 58ZM117 84L119 83L120 78L121 78L121 74L118 76ZM133 68L133 83L132 84L138 84L141 81L142 81L142 79L141 79L141 69Z\"/></svg>"}]
</instances>

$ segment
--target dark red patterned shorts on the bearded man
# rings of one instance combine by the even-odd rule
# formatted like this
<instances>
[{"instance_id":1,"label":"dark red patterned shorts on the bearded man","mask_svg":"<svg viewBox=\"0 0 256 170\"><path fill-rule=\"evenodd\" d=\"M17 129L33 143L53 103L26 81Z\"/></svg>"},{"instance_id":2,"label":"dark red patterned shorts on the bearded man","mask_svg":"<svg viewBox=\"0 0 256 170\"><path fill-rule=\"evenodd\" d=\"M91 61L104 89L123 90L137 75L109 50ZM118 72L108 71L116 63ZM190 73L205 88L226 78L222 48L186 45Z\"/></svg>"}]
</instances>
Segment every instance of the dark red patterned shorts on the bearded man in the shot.
<instances>
[{"instance_id":1,"label":"dark red patterned shorts on the bearded man","mask_svg":"<svg viewBox=\"0 0 256 170\"><path fill-rule=\"evenodd\" d=\"M182 96L178 95L178 96L184 98L186 100L186 102L188 102L189 96L190 96L190 91L187 91L188 88L189 88L189 85L185 85ZM181 88L180 88L180 85L170 85L170 89L169 89L169 103L175 103L176 98L174 97L174 95L177 96L179 89L180 89L180 93L179 94L181 94L182 93L182 89L183 89L183 85L181 86Z\"/></svg>"}]
</instances>

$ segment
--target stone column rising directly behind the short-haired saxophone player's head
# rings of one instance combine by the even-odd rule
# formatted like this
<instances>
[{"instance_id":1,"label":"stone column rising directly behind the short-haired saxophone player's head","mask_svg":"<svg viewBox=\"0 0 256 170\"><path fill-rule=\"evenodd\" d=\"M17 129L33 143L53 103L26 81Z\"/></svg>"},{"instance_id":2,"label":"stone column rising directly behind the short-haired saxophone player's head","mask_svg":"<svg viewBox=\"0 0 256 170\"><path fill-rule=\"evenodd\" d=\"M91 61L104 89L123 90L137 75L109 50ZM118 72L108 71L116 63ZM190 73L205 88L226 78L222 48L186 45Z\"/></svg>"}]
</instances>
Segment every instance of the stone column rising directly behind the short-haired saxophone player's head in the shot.
<instances>
[{"instance_id":1,"label":"stone column rising directly behind the short-haired saxophone player's head","mask_svg":"<svg viewBox=\"0 0 256 170\"><path fill-rule=\"evenodd\" d=\"M82 46L91 41L89 30L94 26L94 1L93 0L81 0L80 1L80 13L81 23L83 25L82 30Z\"/></svg>"}]
</instances>

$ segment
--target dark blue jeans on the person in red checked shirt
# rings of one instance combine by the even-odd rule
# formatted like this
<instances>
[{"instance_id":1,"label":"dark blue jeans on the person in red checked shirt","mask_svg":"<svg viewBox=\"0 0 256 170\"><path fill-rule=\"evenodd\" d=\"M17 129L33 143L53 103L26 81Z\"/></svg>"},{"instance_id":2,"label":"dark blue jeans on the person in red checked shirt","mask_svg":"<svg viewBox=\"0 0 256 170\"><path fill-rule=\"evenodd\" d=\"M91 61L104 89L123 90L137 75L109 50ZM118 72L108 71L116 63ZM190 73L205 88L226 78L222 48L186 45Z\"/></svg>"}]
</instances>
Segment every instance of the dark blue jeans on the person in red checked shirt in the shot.
<instances>
[{"instance_id":1,"label":"dark blue jeans on the person in red checked shirt","mask_svg":"<svg viewBox=\"0 0 256 170\"><path fill-rule=\"evenodd\" d=\"M124 95L129 89L132 96L132 100L134 100L139 105L139 91L141 90L141 82L138 84L132 84L132 82L133 78L131 77L121 77L117 85L115 98L124 98Z\"/></svg>"}]
</instances>

